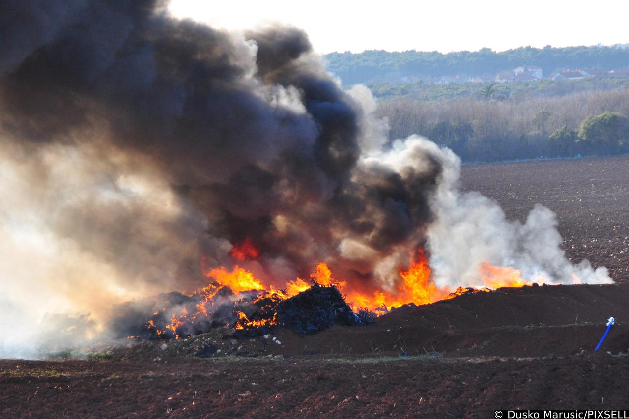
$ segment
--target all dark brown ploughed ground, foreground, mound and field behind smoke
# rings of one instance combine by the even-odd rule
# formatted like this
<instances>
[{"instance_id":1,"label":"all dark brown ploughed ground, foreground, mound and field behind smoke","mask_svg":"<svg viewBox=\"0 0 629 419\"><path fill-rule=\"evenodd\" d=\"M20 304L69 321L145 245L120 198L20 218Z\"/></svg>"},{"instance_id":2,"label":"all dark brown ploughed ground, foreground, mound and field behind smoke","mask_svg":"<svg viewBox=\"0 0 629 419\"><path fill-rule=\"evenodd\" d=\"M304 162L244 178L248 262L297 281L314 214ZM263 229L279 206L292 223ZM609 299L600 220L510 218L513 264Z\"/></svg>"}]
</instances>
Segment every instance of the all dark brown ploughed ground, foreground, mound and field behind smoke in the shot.
<instances>
[{"instance_id":1,"label":"all dark brown ploughed ground, foreground, mound and field behind smoke","mask_svg":"<svg viewBox=\"0 0 629 419\"><path fill-rule=\"evenodd\" d=\"M523 220L557 212L564 249L629 282L629 158L473 165L465 189ZM526 286L395 310L368 327L238 340L128 340L0 361L0 417L493 417L626 408L629 284ZM599 352L605 321L618 321ZM65 359L68 356L91 359Z\"/></svg>"}]
</instances>

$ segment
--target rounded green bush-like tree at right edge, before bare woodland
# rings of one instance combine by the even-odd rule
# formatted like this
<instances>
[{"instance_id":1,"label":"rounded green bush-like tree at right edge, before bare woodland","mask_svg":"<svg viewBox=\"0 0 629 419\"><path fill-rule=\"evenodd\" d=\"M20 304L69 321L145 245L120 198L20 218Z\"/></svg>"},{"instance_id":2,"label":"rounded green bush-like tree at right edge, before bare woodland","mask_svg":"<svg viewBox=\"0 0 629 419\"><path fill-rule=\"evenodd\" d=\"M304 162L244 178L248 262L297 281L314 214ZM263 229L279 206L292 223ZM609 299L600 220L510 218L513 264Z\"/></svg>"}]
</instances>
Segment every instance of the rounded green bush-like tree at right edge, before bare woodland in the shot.
<instances>
[{"instance_id":1,"label":"rounded green bush-like tree at right edge, before bare woodland","mask_svg":"<svg viewBox=\"0 0 629 419\"><path fill-rule=\"evenodd\" d=\"M629 118L616 112L590 115L581 122L577 145L595 154L615 154L626 147Z\"/></svg>"}]
</instances>

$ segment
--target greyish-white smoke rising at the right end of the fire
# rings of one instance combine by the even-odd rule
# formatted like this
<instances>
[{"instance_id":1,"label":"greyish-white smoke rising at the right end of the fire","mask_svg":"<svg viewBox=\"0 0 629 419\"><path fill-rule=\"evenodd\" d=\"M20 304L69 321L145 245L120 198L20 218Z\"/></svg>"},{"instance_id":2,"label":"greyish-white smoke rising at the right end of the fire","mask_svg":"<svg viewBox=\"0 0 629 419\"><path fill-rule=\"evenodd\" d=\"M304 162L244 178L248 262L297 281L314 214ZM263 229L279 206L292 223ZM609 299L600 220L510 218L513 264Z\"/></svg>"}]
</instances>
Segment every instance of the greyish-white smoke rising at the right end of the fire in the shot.
<instances>
[{"instance_id":1,"label":"greyish-white smoke rising at the right end of the fire","mask_svg":"<svg viewBox=\"0 0 629 419\"><path fill-rule=\"evenodd\" d=\"M415 136L404 144L407 148L435 149L429 140ZM518 269L528 282L612 282L605 267L593 269L588 260L572 264L566 258L553 211L535 204L525 223L508 220L493 199L460 191L460 159L447 149L440 153L445 171L431 201L435 221L427 232L430 263L438 286L483 286L484 263Z\"/></svg>"}]
</instances>

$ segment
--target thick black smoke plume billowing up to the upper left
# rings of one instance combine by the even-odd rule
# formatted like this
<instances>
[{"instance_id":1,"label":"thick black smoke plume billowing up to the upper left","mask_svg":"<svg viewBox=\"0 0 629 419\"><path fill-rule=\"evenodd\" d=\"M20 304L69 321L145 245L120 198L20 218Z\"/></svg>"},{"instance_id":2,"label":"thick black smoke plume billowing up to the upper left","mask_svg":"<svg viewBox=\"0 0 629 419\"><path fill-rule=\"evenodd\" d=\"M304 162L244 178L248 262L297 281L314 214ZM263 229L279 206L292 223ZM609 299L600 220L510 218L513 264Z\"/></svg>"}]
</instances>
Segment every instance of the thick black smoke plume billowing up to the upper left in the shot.
<instances>
[{"instance_id":1,"label":"thick black smoke plume billowing up to the upper left","mask_svg":"<svg viewBox=\"0 0 629 419\"><path fill-rule=\"evenodd\" d=\"M231 35L175 20L166 6L3 3L3 136L23 147L89 145L103 159L123 155L121 170L160 177L179 205L203 214L198 237L182 228L186 217L196 220L187 211L160 226L165 236L182 228L180 241L196 240L198 259L214 265L231 263L227 243L249 239L261 250L253 269L278 282L307 275L320 260L369 280L379 259L423 240L439 160L429 156L426 170L405 173L361 164L365 111L325 72L303 31ZM86 203L54 227L117 264L121 243L147 247L127 236L151 211ZM178 280L198 281L199 260L183 259Z\"/></svg>"}]
</instances>

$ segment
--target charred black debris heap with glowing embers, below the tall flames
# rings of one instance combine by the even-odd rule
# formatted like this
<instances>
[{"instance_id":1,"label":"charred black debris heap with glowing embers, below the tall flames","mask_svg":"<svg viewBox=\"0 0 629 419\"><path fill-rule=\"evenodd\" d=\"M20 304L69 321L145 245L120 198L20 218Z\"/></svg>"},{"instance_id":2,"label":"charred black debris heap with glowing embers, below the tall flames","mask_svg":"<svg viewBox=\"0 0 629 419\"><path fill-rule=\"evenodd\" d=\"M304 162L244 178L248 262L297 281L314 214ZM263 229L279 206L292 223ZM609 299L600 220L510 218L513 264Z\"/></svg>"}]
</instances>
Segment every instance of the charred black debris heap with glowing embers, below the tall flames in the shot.
<instances>
[{"instance_id":1,"label":"charred black debris heap with glowing embers, below the tall flames","mask_svg":"<svg viewBox=\"0 0 629 419\"><path fill-rule=\"evenodd\" d=\"M127 327L136 334L128 338L179 339L233 327L234 337L259 337L274 327L286 327L310 335L332 325L365 326L376 315L367 310L354 313L338 288L312 281L309 288L289 296L286 290L243 291L235 294L228 286L211 284L192 296L161 294L164 308L142 325ZM173 312L172 316L167 313ZM128 322L127 313L120 321ZM126 317L126 318L125 318Z\"/></svg>"}]
</instances>

